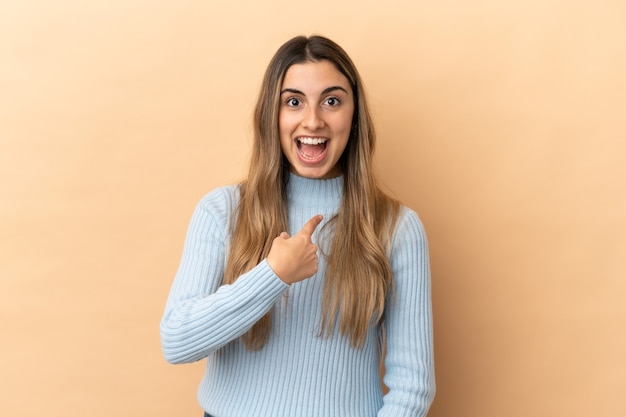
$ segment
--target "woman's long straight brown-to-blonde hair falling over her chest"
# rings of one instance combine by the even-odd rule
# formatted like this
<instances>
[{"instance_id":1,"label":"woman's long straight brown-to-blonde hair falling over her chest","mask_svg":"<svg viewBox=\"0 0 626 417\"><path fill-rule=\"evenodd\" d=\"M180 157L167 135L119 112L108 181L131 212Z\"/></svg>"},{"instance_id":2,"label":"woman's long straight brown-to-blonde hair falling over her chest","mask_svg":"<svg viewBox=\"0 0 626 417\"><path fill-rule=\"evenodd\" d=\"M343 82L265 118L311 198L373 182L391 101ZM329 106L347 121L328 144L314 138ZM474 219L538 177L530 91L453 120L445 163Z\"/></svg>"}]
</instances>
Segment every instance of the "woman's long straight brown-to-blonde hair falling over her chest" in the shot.
<instances>
[{"instance_id":1,"label":"woman's long straight brown-to-blonde hair falling over her chest","mask_svg":"<svg viewBox=\"0 0 626 417\"><path fill-rule=\"evenodd\" d=\"M355 100L353 126L339 160L343 196L327 227L333 233L327 254L321 336L336 324L353 347L362 347L372 320L379 323L393 291L387 251L399 203L377 185L372 170L375 134L361 78L346 52L333 41L299 36L282 45L265 72L254 113L254 144L247 180L240 188L224 284L234 282L267 257L273 239L287 230L289 163L278 135L280 89L294 64L327 60L350 82ZM246 348L260 349L269 335L271 310L242 336Z\"/></svg>"}]
</instances>

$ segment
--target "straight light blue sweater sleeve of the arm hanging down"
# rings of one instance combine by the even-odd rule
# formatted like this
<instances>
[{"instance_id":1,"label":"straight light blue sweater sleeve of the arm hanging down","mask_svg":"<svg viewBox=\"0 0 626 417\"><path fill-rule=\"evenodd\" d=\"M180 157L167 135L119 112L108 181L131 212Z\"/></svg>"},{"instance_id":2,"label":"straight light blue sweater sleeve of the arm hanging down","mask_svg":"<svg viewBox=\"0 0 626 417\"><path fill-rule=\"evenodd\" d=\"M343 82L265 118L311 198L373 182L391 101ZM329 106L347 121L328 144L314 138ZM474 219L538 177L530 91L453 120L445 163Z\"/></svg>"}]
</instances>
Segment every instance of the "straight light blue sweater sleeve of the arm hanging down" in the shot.
<instances>
[{"instance_id":1,"label":"straight light blue sweater sleeve of the arm hanging down","mask_svg":"<svg viewBox=\"0 0 626 417\"><path fill-rule=\"evenodd\" d=\"M385 385L378 416L423 417L435 396L430 263L417 214L401 211L391 256L395 291L386 311Z\"/></svg>"}]
</instances>

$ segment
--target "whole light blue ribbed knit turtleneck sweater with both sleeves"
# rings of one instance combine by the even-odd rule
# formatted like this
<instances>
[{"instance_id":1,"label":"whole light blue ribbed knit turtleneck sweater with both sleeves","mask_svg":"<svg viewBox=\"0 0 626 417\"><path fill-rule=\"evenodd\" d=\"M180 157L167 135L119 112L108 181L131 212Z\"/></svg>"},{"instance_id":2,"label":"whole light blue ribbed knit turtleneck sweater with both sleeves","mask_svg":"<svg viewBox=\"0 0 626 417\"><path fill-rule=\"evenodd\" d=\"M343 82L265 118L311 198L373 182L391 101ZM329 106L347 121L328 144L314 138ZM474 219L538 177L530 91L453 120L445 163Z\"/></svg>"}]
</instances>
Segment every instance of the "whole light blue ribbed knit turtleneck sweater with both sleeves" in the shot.
<instances>
[{"instance_id":1,"label":"whole light blue ribbed knit turtleneck sweater with both sleeves","mask_svg":"<svg viewBox=\"0 0 626 417\"><path fill-rule=\"evenodd\" d=\"M324 215L323 222L330 219L342 186L342 177L292 174L288 232L297 233L316 214ZM392 240L396 291L386 307L389 392L383 397L379 326L370 326L361 349L338 332L318 336L323 256L316 275L292 285L265 260L234 284L221 285L238 197L236 186L218 188L196 207L161 321L169 362L206 359L198 389L202 408L216 417L425 416L435 383L428 250L417 215L403 207ZM312 239L321 246L319 236L316 231ZM240 336L269 309L267 342L259 351L247 351Z\"/></svg>"}]
</instances>

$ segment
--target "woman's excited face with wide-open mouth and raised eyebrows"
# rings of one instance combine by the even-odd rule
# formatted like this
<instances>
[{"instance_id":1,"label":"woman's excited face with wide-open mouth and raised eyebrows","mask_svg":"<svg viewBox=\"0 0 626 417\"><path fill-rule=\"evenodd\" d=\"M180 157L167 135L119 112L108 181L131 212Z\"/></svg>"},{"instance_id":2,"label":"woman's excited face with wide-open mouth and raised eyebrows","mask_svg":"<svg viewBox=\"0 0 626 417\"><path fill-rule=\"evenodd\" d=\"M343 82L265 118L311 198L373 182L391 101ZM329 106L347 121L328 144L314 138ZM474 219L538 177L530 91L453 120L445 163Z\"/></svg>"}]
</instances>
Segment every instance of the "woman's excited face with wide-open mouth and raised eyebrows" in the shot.
<instances>
[{"instance_id":1,"label":"woman's excited face with wide-open mouth and raised eyebrows","mask_svg":"<svg viewBox=\"0 0 626 417\"><path fill-rule=\"evenodd\" d=\"M352 126L354 97L348 79L329 61L289 67L280 94L280 147L291 171L307 178L341 174Z\"/></svg>"}]
</instances>

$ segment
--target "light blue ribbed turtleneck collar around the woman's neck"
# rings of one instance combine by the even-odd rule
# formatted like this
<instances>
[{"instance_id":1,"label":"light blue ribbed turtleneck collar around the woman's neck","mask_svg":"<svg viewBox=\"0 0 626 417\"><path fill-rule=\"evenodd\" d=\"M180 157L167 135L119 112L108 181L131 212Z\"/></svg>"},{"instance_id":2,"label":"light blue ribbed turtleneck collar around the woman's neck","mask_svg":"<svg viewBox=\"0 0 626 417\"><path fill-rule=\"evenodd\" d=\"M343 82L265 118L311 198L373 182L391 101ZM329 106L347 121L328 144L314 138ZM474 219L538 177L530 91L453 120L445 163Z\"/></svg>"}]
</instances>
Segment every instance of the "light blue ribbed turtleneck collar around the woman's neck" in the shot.
<instances>
[{"instance_id":1,"label":"light blue ribbed turtleneck collar around the woman's neck","mask_svg":"<svg viewBox=\"0 0 626 417\"><path fill-rule=\"evenodd\" d=\"M290 205L337 207L343 191L343 176L311 179L289 174L287 196Z\"/></svg>"}]
</instances>

